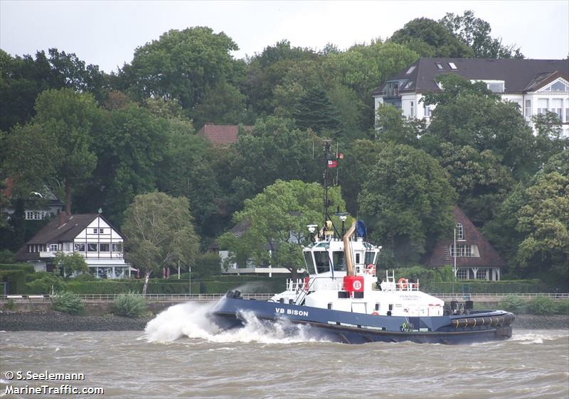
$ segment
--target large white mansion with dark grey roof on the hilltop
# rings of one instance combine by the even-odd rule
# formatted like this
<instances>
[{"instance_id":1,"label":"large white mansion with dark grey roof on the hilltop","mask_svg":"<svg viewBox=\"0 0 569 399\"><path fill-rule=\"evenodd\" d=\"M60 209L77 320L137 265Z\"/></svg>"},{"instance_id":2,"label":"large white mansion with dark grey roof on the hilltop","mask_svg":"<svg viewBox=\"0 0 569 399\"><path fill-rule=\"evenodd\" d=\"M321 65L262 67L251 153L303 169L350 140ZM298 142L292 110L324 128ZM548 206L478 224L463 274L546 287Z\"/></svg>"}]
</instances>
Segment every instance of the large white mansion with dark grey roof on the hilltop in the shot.
<instances>
[{"instance_id":1,"label":"large white mansion with dark grey roof on the hilltop","mask_svg":"<svg viewBox=\"0 0 569 399\"><path fill-rule=\"evenodd\" d=\"M530 125L533 115L557 114L561 135L569 137L569 60L420 58L373 91L376 110L392 104L403 116L428 123L435 106L425 106L423 94L439 91L435 77L448 73L486 83L502 100L518 104Z\"/></svg>"}]
</instances>

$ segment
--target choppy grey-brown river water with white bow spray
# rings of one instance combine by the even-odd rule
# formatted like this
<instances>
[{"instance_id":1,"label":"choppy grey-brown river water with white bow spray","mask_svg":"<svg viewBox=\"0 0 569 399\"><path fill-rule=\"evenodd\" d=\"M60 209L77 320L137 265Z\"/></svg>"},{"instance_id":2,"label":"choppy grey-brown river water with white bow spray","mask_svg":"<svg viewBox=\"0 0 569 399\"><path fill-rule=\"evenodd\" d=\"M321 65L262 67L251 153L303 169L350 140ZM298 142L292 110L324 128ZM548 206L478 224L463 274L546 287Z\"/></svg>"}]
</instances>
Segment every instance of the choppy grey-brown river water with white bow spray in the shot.
<instances>
[{"instance_id":1,"label":"choppy grey-brown river water with white bow spray","mask_svg":"<svg viewBox=\"0 0 569 399\"><path fill-rule=\"evenodd\" d=\"M84 373L63 383L103 387L99 398L569 398L564 330L514 329L508 341L473 345L346 345L314 341L309 328L289 338L289 327L253 317L219 333L206 310L176 305L146 332L1 332L0 396L6 384L62 383L11 382L6 371L48 371Z\"/></svg>"}]
</instances>

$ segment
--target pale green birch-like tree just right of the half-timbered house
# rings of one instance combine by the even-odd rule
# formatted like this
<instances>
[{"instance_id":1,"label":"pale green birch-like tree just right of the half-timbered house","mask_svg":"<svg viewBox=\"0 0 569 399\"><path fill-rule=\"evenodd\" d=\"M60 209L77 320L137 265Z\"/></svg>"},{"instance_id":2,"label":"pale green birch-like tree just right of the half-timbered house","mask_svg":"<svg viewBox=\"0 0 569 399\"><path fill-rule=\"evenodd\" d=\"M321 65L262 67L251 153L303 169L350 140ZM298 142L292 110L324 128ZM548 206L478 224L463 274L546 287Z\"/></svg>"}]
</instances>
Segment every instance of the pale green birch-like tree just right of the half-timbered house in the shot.
<instances>
[{"instance_id":1,"label":"pale green birch-like tree just right of the half-timbered house","mask_svg":"<svg viewBox=\"0 0 569 399\"><path fill-rule=\"evenodd\" d=\"M188 200L174 198L163 192L137 195L125 212L122 233L125 236L124 258L145 270L146 294L152 272L176 267L179 263L192 266L199 247L193 230Z\"/></svg>"}]
</instances>

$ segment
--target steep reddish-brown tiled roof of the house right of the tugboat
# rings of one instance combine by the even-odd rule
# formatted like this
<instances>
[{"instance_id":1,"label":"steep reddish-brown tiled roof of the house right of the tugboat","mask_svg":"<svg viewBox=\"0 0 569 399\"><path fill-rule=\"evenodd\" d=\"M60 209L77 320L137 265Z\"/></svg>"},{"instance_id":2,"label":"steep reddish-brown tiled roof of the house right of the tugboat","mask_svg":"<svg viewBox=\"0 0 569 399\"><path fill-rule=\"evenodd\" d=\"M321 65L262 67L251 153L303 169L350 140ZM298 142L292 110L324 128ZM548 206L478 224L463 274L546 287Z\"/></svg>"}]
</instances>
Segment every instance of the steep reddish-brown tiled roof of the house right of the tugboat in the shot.
<instances>
[{"instance_id":1,"label":"steep reddish-brown tiled roof of the house right of the tugboat","mask_svg":"<svg viewBox=\"0 0 569 399\"><path fill-rule=\"evenodd\" d=\"M462 209L454 207L453 215L454 221L461 223L464 231L464 240L457 239L457 246L459 244L475 244L478 246L480 254L479 257L471 258L457 256L457 267L506 266L504 259L501 258L494 247L480 234L467 215L462 212ZM452 241L452 239L438 241L435 249L432 251L432 256L427 266L437 267L452 265L454 262L452 256L450 256L450 245Z\"/></svg>"}]
</instances>

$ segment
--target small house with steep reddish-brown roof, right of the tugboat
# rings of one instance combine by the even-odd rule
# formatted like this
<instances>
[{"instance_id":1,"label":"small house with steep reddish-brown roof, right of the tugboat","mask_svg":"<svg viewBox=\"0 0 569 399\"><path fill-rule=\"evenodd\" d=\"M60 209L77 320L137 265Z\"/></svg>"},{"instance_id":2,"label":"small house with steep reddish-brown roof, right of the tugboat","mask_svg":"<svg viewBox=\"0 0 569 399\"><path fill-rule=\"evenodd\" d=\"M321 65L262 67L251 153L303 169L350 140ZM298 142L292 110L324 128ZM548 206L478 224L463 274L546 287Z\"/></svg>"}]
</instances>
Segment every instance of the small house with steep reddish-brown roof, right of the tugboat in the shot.
<instances>
[{"instance_id":1,"label":"small house with steep reddish-brown roof, right of the tugboat","mask_svg":"<svg viewBox=\"0 0 569 399\"><path fill-rule=\"evenodd\" d=\"M458 280L500 280L506 262L480 234L459 207L454 207L456 248L454 239L438 241L427 263L430 267L454 266Z\"/></svg>"}]
</instances>

